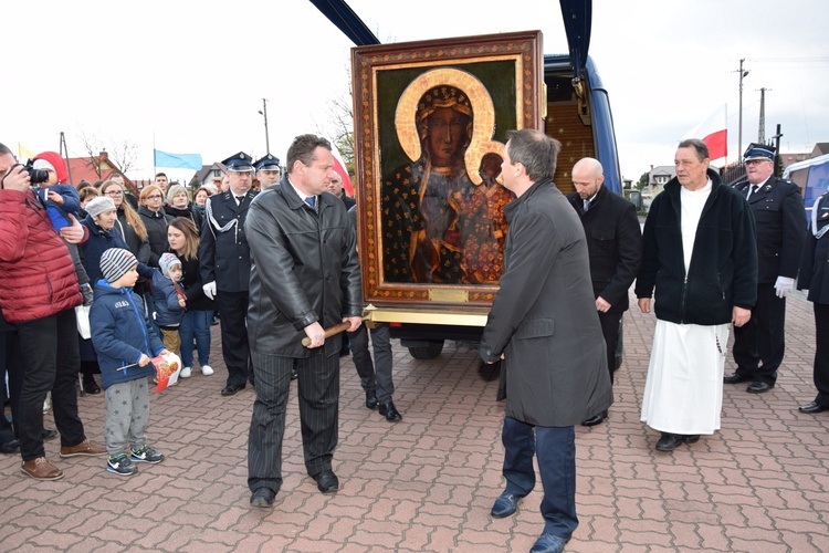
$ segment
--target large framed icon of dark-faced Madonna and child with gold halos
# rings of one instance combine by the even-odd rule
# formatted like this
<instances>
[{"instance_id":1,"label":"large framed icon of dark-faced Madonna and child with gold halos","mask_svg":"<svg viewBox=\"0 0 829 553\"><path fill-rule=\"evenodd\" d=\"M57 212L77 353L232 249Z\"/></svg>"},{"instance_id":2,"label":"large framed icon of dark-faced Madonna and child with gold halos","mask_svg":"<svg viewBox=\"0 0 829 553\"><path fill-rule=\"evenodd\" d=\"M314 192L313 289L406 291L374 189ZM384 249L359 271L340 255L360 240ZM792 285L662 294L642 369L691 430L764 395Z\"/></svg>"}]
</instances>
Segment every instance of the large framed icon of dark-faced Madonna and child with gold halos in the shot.
<instances>
[{"instance_id":1,"label":"large framed icon of dark-faced Madonna and child with gold halos","mask_svg":"<svg viewBox=\"0 0 829 553\"><path fill-rule=\"evenodd\" d=\"M543 128L539 31L353 49L366 302L486 306L514 198L507 132Z\"/></svg>"}]
</instances>

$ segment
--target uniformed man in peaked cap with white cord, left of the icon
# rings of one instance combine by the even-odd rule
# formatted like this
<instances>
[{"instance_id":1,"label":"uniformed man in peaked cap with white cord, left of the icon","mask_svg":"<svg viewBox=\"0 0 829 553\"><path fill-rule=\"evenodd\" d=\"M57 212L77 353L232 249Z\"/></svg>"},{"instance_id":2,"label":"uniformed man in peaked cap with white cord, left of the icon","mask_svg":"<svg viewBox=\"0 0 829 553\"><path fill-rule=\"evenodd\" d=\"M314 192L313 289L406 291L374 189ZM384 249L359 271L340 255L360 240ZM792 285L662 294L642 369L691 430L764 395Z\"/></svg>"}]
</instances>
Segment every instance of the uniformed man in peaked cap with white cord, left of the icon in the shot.
<instances>
[{"instance_id":1,"label":"uniformed man in peaked cap with white cord, left of the icon","mask_svg":"<svg viewBox=\"0 0 829 553\"><path fill-rule=\"evenodd\" d=\"M248 290L251 279L251 252L244 236L244 219L255 197L252 158L244 152L224 161L230 176L225 192L210 196L204 204L199 262L204 294L221 313L222 356L228 383L222 396L244 388L253 372L248 347Z\"/></svg>"}]
</instances>

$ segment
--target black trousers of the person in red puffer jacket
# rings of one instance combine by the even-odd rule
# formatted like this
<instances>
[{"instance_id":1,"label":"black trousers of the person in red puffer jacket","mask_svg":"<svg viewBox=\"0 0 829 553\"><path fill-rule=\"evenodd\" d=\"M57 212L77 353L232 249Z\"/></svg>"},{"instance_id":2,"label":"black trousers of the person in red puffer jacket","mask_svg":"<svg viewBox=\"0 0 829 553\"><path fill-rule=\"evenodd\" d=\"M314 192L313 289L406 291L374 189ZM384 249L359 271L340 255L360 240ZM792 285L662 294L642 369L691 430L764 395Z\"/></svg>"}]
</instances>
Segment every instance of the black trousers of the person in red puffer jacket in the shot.
<instances>
[{"instance_id":1,"label":"black trousers of the person in red puffer jacket","mask_svg":"<svg viewBox=\"0 0 829 553\"><path fill-rule=\"evenodd\" d=\"M76 446L86 437L77 415L77 351L75 311L18 323L23 363L23 386L18 407L20 452L24 461L44 457L43 401L52 390L52 409L61 446Z\"/></svg>"}]
</instances>

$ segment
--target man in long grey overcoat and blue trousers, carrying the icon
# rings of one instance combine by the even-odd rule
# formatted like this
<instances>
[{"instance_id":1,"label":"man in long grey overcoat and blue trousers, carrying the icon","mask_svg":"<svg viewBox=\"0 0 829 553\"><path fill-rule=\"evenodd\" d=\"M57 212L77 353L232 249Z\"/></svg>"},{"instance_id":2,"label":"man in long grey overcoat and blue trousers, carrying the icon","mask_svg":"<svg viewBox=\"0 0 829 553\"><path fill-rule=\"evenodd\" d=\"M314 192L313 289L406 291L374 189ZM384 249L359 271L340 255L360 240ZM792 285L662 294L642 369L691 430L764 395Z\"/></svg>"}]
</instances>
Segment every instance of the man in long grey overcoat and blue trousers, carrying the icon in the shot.
<instances>
[{"instance_id":1,"label":"man in long grey overcoat and blue trousers, carrying the icon","mask_svg":"<svg viewBox=\"0 0 829 553\"><path fill-rule=\"evenodd\" d=\"M517 199L504 209L504 272L479 351L486 363L504 359L506 490L494 518L532 491L538 456L545 526L533 552L562 551L576 530L574 426L613 401L585 231L553 184L560 146L538 131L510 133L502 169Z\"/></svg>"}]
</instances>

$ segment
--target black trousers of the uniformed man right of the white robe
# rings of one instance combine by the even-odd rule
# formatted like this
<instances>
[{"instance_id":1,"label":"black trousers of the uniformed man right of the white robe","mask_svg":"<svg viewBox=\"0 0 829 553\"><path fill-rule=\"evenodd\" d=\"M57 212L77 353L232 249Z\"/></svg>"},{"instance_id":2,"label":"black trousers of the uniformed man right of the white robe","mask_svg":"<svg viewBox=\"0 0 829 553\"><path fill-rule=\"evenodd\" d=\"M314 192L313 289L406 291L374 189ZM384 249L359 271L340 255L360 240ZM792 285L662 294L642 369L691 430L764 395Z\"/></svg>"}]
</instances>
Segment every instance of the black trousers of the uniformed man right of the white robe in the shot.
<instances>
[{"instance_id":1,"label":"black trousers of the uniformed man right of the white robe","mask_svg":"<svg viewBox=\"0 0 829 553\"><path fill-rule=\"evenodd\" d=\"M737 374L766 384L777 380L777 369L786 352L785 325L786 299L777 298L774 284L759 284L752 319L734 327Z\"/></svg>"}]
</instances>

